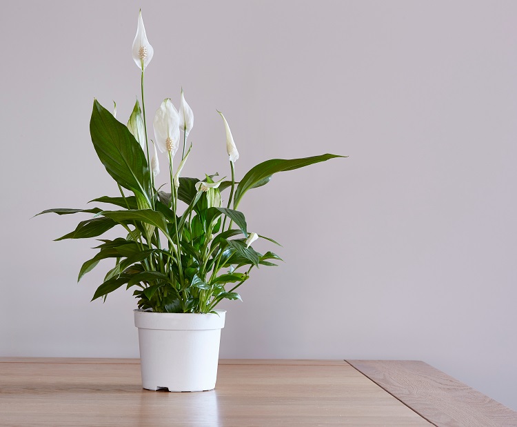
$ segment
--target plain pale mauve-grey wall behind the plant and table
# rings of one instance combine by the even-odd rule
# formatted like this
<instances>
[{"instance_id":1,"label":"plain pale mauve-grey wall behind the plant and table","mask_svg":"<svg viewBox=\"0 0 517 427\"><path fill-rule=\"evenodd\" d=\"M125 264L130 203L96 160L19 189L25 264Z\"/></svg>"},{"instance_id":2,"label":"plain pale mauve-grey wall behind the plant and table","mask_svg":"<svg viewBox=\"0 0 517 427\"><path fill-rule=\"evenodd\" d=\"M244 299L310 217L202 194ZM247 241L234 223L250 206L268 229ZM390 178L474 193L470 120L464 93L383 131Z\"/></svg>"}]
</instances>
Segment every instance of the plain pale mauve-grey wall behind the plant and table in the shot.
<instances>
[{"instance_id":1,"label":"plain pale mauve-grey wall behind the plant and table","mask_svg":"<svg viewBox=\"0 0 517 427\"><path fill-rule=\"evenodd\" d=\"M139 355L130 292L89 302L109 264L76 283L94 242L52 241L87 216L30 217L118 194L88 123L139 95L140 7L148 117L181 86L194 110L185 175L230 174L216 108L237 177L349 155L241 203L285 264L224 305L221 357L420 359L517 409L514 1L4 1L0 356Z\"/></svg>"}]
</instances>

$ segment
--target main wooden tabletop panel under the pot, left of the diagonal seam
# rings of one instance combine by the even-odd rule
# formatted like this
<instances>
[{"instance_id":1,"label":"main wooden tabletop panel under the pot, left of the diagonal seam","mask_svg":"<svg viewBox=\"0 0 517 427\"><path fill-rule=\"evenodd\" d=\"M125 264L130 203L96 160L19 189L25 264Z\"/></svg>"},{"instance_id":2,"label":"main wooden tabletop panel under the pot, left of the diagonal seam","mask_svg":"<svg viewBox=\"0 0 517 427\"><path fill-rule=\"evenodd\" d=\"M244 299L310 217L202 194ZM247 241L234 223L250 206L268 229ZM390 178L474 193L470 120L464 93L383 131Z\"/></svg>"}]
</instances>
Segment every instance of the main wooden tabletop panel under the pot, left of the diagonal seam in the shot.
<instances>
[{"instance_id":1,"label":"main wooden tabletop panel under the pot, left of the diagonal seam","mask_svg":"<svg viewBox=\"0 0 517 427\"><path fill-rule=\"evenodd\" d=\"M4 359L0 425L429 425L345 361L223 361L216 390L203 393L153 392L140 381L134 361Z\"/></svg>"}]
</instances>

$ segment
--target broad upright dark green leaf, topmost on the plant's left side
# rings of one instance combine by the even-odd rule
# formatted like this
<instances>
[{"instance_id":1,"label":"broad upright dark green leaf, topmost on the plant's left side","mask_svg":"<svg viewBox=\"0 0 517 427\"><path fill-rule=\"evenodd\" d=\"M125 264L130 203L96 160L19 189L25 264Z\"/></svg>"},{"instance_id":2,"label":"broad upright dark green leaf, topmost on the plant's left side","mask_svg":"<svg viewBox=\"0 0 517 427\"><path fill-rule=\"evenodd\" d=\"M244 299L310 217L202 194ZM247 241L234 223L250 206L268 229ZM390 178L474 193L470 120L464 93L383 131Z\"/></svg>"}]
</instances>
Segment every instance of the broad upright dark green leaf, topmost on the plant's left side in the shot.
<instances>
[{"instance_id":1,"label":"broad upright dark green leaf, topmost on the plant's left side","mask_svg":"<svg viewBox=\"0 0 517 427\"><path fill-rule=\"evenodd\" d=\"M97 99L93 101L90 134L95 151L112 178L124 188L139 192L150 205L150 172L143 150L128 128Z\"/></svg>"}]
</instances>

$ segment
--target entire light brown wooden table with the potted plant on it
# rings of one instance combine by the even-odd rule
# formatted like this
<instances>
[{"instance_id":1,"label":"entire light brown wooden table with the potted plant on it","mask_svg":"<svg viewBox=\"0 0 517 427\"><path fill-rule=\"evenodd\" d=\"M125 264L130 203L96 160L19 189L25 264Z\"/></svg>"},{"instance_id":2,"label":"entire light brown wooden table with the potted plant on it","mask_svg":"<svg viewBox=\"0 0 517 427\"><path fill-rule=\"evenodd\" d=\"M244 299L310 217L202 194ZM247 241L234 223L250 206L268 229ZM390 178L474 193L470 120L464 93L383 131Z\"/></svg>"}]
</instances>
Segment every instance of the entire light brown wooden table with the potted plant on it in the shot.
<instances>
[{"instance_id":1,"label":"entire light brown wooden table with the potted plant on it","mask_svg":"<svg viewBox=\"0 0 517 427\"><path fill-rule=\"evenodd\" d=\"M0 426L517 426L421 361L221 360L215 390L143 390L138 359L0 358Z\"/></svg>"}]
</instances>

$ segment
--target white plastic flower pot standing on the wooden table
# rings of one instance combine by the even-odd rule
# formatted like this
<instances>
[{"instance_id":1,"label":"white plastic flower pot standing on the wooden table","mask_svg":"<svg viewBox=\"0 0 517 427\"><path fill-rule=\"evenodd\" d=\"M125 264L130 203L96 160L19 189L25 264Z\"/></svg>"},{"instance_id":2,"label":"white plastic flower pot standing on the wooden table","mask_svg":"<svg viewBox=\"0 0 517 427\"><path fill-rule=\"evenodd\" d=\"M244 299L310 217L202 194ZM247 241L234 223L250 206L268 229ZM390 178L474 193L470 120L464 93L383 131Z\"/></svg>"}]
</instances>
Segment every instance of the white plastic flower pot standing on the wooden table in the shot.
<instances>
[{"instance_id":1,"label":"white plastic flower pot standing on the wooden table","mask_svg":"<svg viewBox=\"0 0 517 427\"><path fill-rule=\"evenodd\" d=\"M225 310L217 314L134 310L142 386L148 390L212 390L216 384Z\"/></svg>"}]
</instances>

